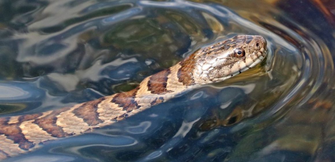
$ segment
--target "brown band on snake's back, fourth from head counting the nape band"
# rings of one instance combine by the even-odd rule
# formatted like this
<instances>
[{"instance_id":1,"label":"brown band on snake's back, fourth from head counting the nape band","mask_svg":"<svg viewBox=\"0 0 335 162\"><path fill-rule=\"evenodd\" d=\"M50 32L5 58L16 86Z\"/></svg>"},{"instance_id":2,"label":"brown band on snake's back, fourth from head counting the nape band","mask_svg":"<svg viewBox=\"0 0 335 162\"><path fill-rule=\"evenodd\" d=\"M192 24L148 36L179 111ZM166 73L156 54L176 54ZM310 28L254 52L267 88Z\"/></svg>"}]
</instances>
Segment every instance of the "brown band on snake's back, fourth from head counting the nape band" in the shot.
<instances>
[{"instance_id":1,"label":"brown band on snake's back, fourth from head counting the nape band","mask_svg":"<svg viewBox=\"0 0 335 162\"><path fill-rule=\"evenodd\" d=\"M99 119L99 114L96 112L97 105L103 100L105 100L105 97L85 102L78 108L74 109L72 112L77 117L82 118L89 126L97 125L103 122Z\"/></svg>"}]
</instances>

